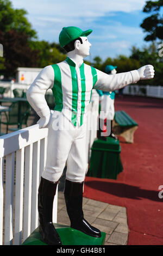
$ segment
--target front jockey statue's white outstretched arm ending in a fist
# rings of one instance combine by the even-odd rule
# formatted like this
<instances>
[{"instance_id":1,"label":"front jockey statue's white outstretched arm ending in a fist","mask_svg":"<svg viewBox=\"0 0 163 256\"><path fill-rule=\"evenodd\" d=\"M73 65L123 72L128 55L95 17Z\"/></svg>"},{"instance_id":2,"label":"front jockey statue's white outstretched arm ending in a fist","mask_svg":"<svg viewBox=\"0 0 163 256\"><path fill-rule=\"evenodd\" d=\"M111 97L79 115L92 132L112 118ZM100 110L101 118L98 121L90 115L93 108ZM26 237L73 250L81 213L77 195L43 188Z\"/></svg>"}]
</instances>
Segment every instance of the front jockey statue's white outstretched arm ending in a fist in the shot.
<instances>
[{"instance_id":1,"label":"front jockey statue's white outstretched arm ending in a fist","mask_svg":"<svg viewBox=\"0 0 163 256\"><path fill-rule=\"evenodd\" d=\"M154 68L152 65L145 65L138 70L119 73L111 76L97 70L97 77L98 79L93 89L110 92L121 89L128 84L136 83L139 80L147 80L153 78Z\"/></svg>"}]
</instances>

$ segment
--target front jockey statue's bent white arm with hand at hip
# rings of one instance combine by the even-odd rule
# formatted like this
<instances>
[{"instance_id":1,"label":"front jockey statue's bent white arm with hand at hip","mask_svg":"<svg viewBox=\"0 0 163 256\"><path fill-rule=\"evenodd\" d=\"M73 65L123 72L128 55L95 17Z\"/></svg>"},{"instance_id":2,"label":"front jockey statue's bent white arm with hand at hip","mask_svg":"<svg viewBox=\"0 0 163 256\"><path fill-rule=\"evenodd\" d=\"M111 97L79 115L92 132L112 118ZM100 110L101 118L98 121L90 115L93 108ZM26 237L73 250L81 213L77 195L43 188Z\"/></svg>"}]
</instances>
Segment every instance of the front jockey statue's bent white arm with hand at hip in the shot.
<instances>
[{"instance_id":1,"label":"front jockey statue's bent white arm with hand at hip","mask_svg":"<svg viewBox=\"0 0 163 256\"><path fill-rule=\"evenodd\" d=\"M39 127L45 127L51 115L51 111L45 100L46 91L53 87L54 71L52 66L46 66L41 70L27 91L27 100L39 115Z\"/></svg>"}]
</instances>

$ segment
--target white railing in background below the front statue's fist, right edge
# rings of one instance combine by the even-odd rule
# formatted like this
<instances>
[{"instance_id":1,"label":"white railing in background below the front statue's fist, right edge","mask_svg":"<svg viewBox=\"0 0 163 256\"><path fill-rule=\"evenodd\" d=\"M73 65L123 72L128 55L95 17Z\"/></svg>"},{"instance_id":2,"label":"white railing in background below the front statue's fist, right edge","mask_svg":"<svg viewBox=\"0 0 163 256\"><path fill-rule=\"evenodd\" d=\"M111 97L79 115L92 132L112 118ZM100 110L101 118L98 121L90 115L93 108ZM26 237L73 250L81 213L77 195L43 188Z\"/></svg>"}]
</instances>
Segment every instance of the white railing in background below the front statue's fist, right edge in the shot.
<instances>
[{"instance_id":1,"label":"white railing in background below the front statue's fist, right edge","mask_svg":"<svg viewBox=\"0 0 163 256\"><path fill-rule=\"evenodd\" d=\"M163 98L163 87L130 84L123 89L123 94Z\"/></svg>"}]
</instances>

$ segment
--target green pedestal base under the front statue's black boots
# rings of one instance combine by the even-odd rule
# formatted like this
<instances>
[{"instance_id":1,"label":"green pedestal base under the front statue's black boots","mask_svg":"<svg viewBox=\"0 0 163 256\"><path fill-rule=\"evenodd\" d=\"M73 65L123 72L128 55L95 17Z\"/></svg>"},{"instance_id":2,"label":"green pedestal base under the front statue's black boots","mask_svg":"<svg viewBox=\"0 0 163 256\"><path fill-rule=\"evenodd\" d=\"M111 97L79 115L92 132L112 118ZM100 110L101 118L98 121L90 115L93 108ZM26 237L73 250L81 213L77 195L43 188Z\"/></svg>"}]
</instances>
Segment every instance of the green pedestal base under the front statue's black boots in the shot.
<instances>
[{"instance_id":1,"label":"green pedestal base under the front statue's black boots","mask_svg":"<svg viewBox=\"0 0 163 256\"><path fill-rule=\"evenodd\" d=\"M54 223L54 226L60 236L62 245L104 245L106 235L104 232L102 232L101 237L93 237L67 225ZM41 241L39 228L36 228L22 245L46 245L46 243Z\"/></svg>"}]
</instances>

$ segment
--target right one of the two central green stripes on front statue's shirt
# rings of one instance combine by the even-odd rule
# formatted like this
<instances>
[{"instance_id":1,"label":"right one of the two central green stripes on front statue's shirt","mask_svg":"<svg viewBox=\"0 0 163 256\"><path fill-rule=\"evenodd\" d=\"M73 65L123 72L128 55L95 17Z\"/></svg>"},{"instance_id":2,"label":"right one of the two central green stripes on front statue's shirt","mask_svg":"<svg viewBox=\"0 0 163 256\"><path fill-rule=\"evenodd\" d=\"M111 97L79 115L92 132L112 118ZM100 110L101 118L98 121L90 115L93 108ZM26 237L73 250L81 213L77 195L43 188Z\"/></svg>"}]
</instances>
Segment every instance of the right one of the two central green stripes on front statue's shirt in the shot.
<instances>
[{"instance_id":1,"label":"right one of the two central green stripes on front statue's shirt","mask_svg":"<svg viewBox=\"0 0 163 256\"><path fill-rule=\"evenodd\" d=\"M84 74L84 63L80 66L80 78L82 87L82 99L81 99L81 115L80 115L80 126L83 124L83 114L85 112L85 74Z\"/></svg>"}]
</instances>

